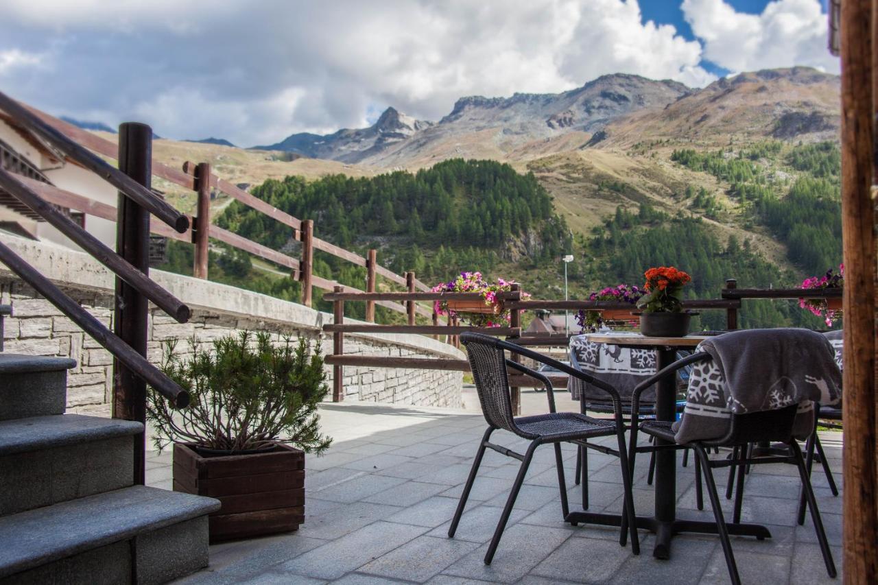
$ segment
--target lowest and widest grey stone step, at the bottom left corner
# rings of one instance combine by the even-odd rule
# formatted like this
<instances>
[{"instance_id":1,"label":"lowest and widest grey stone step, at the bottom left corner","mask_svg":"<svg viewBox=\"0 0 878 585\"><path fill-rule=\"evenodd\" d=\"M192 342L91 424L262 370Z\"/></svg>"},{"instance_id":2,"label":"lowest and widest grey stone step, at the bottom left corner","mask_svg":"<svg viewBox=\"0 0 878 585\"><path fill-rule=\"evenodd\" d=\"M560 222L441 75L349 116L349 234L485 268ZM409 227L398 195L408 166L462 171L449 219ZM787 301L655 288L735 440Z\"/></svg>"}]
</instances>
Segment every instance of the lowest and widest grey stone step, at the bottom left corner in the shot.
<instances>
[{"instance_id":1,"label":"lowest and widest grey stone step, at the bottom left corner","mask_svg":"<svg viewBox=\"0 0 878 585\"><path fill-rule=\"evenodd\" d=\"M207 566L219 501L133 486L0 517L0 585L163 583Z\"/></svg>"}]
</instances>

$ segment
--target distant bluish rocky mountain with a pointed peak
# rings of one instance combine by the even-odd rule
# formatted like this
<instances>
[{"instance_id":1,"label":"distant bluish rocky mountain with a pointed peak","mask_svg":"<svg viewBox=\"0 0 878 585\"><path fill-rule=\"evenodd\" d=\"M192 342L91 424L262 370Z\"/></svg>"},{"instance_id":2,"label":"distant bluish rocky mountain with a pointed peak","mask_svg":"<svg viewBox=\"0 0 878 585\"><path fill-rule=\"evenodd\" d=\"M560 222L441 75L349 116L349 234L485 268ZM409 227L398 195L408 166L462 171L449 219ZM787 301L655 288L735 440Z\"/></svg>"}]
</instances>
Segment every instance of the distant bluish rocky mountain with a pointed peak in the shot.
<instances>
[{"instance_id":1,"label":"distant bluish rocky mountain with a pointed peak","mask_svg":"<svg viewBox=\"0 0 878 585\"><path fill-rule=\"evenodd\" d=\"M334 134L300 133L287 136L283 141L257 150L284 150L312 158L326 158L341 162L362 162L392 145L406 141L415 133L432 126L432 122L414 119L387 108L372 126L339 130Z\"/></svg>"}]
</instances>

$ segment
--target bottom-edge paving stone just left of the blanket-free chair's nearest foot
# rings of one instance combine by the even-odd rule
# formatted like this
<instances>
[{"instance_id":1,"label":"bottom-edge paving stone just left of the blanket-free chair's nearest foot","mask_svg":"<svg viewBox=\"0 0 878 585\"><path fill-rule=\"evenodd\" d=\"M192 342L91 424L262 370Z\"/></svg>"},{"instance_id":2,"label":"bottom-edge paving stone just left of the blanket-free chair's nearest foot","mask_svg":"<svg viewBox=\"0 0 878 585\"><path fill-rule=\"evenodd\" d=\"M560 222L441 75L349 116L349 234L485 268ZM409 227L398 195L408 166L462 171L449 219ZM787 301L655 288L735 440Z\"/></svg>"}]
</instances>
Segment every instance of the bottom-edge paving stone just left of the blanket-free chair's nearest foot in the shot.
<instances>
[{"instance_id":1,"label":"bottom-edge paving stone just left of the blanket-free chair's nearest foot","mask_svg":"<svg viewBox=\"0 0 878 585\"><path fill-rule=\"evenodd\" d=\"M476 543L465 540L421 536L363 565L358 571L408 581L427 581L476 546Z\"/></svg>"}]
</instances>

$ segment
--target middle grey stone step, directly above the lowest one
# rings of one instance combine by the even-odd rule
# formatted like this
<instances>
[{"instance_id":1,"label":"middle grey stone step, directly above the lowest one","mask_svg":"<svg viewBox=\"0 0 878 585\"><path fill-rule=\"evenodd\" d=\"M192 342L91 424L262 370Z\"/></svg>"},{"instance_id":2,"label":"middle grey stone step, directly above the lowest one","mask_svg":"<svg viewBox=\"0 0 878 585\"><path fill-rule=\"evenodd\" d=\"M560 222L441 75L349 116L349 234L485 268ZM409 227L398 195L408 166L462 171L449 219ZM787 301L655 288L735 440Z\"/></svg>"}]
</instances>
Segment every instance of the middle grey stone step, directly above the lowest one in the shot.
<instances>
[{"instance_id":1,"label":"middle grey stone step, directly above the lowest one","mask_svg":"<svg viewBox=\"0 0 878 585\"><path fill-rule=\"evenodd\" d=\"M0 516L133 485L143 425L84 415L0 421Z\"/></svg>"}]
</instances>

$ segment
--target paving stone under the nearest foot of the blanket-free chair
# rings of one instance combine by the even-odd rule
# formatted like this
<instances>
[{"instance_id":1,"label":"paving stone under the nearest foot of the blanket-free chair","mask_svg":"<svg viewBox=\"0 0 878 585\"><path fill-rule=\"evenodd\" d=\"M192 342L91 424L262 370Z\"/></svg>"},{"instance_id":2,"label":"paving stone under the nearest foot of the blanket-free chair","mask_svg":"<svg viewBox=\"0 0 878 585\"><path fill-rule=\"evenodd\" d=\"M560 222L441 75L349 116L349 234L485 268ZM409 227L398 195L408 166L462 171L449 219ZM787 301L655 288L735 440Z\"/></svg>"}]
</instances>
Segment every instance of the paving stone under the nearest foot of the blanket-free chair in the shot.
<instances>
[{"instance_id":1,"label":"paving stone under the nearest foot of the blanket-free chair","mask_svg":"<svg viewBox=\"0 0 878 585\"><path fill-rule=\"evenodd\" d=\"M443 573L482 581L518 581L569 536L568 531L513 524L503 532L491 565L485 564L487 545L481 545Z\"/></svg>"}]
</instances>

